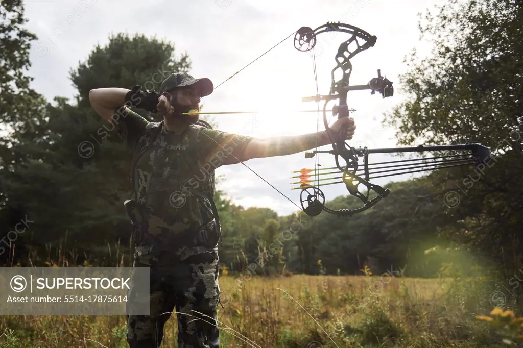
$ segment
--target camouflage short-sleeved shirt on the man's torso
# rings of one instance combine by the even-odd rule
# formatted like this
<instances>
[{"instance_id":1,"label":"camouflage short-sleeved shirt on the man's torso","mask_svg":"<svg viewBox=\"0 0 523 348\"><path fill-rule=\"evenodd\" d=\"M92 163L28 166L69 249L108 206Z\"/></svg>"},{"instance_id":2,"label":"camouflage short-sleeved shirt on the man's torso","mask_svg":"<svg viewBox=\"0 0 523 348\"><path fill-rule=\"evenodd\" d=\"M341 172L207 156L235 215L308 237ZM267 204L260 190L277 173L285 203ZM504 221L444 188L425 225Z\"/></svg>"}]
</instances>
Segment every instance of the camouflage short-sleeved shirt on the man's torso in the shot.
<instances>
[{"instance_id":1,"label":"camouflage short-sleeved shirt on the man's torso","mask_svg":"<svg viewBox=\"0 0 523 348\"><path fill-rule=\"evenodd\" d=\"M135 163L132 199L149 211L147 233L176 243L177 234L212 222L214 170L239 163L235 157L253 138L200 125L168 132L163 123L150 123L127 107L119 113L118 133Z\"/></svg>"}]
</instances>

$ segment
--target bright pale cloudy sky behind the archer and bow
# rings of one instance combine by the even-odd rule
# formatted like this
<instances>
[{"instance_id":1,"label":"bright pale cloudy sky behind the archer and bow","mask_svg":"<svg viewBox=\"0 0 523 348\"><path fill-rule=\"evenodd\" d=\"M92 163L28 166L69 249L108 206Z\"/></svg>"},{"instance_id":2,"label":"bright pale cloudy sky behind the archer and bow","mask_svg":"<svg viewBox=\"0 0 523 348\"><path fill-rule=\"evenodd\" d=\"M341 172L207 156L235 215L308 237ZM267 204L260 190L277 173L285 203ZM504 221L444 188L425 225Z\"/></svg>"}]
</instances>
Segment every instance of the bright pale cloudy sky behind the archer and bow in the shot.
<instances>
[{"instance_id":1,"label":"bright pale cloudy sky behind the archer and bow","mask_svg":"<svg viewBox=\"0 0 523 348\"><path fill-rule=\"evenodd\" d=\"M175 44L178 56L187 52L191 75L209 77L218 86L257 56L302 26L319 27L341 21L378 37L376 45L359 53L351 62L351 84L366 84L381 74L394 82L394 96L382 99L370 91L349 93L349 107L357 130L349 142L355 147L395 147L394 129L381 125L382 114L391 111L404 95L398 76L405 72L403 59L413 48L427 54L427 43L419 41L417 13L433 9L438 0L286 0L240 1L198 0L190 2L136 0L27 0L28 29L39 37L31 52L32 87L48 100L72 98L76 90L69 71L85 61L97 43L105 45L111 33L143 33ZM328 94L334 56L344 33L324 33L316 45L316 68L320 94ZM293 37L261 57L234 78L203 98L206 111L266 110L256 115L217 115L218 128L255 137L298 135L316 130L316 113L289 114L278 110L316 110L314 102L301 102L316 94L311 54L294 49ZM130 88L132 86L115 86ZM329 106L334 105L331 102ZM323 107L323 104L321 105ZM331 117L328 118L331 120ZM323 123L320 129L324 130ZM80 142L80 141L79 141ZM327 147L322 149L329 149ZM373 157L371 161L384 157ZM320 163L332 167L331 155ZM254 159L246 165L299 205L299 191L291 191L291 171L312 168L314 159L304 154ZM217 170L225 181L220 185L236 204L265 206L279 214L297 207L241 164ZM405 180L406 176L392 177ZM390 179L371 181L385 184ZM327 200L346 195L343 184L323 188Z\"/></svg>"}]
</instances>

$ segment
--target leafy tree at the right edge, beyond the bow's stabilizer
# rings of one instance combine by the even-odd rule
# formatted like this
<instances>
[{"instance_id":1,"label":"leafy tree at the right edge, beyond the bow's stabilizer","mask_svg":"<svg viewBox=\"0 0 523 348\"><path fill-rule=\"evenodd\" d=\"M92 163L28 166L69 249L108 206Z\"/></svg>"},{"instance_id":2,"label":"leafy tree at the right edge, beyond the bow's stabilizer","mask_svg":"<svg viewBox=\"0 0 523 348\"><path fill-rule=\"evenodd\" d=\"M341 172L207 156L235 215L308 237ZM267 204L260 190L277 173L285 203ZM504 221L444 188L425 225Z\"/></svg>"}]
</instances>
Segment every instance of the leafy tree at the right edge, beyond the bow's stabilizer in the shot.
<instances>
[{"instance_id":1,"label":"leafy tree at the right edge, beyond the bow's stabilizer","mask_svg":"<svg viewBox=\"0 0 523 348\"><path fill-rule=\"evenodd\" d=\"M460 185L441 236L483 252L507 275L521 267L523 208L523 5L514 0L449 0L419 29L433 42L414 54L400 85L408 99L388 115L403 145L481 142L489 166L435 175L442 189ZM445 192L445 191L443 191Z\"/></svg>"}]
</instances>

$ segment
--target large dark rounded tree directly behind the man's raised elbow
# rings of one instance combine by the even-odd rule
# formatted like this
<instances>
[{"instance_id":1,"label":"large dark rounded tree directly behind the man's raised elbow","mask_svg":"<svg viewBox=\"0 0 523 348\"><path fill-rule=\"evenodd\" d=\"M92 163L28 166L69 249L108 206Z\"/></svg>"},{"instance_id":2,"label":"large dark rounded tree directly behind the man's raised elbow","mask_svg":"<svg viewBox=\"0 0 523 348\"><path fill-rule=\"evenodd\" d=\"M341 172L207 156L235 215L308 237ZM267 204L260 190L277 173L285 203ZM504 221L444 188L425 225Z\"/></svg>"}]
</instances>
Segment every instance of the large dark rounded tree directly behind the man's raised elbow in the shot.
<instances>
[{"instance_id":1,"label":"large dark rounded tree directly behind the man's raised elbow","mask_svg":"<svg viewBox=\"0 0 523 348\"><path fill-rule=\"evenodd\" d=\"M189 68L187 54L175 59L173 44L118 34L71 71L76 103L54 98L32 115L40 121L33 122L36 131L18 128L12 136L17 146L3 148L7 160L23 156L19 163L10 160L9 170L3 171L2 190L10 206L20 206L35 221L19 246L42 250L46 244L63 245L67 237L69 247L92 254L93 262L114 263L105 257L107 246L129 245L123 210L130 190L128 155L115 124L101 120L90 107L89 90L137 84L158 90L165 76Z\"/></svg>"}]
</instances>

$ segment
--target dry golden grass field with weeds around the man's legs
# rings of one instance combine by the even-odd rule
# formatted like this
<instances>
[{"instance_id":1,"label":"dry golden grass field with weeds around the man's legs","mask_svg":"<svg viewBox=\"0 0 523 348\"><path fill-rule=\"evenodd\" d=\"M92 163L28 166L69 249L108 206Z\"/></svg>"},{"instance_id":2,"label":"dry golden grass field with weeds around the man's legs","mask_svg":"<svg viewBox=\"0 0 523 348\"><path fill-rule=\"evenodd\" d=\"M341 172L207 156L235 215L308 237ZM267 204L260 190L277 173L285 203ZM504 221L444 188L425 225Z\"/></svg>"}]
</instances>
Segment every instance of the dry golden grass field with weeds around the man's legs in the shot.
<instances>
[{"instance_id":1,"label":"dry golden grass field with weeds around the man's legs","mask_svg":"<svg viewBox=\"0 0 523 348\"><path fill-rule=\"evenodd\" d=\"M477 279L396 276L220 278L223 347L496 347ZM482 308L485 304L485 308ZM0 317L0 347L126 347L123 316ZM176 316L163 346L177 347Z\"/></svg>"}]
</instances>

